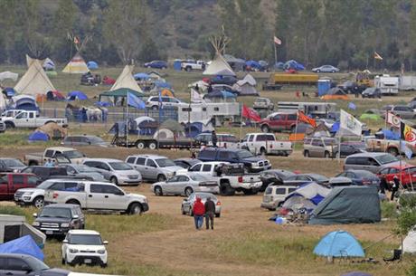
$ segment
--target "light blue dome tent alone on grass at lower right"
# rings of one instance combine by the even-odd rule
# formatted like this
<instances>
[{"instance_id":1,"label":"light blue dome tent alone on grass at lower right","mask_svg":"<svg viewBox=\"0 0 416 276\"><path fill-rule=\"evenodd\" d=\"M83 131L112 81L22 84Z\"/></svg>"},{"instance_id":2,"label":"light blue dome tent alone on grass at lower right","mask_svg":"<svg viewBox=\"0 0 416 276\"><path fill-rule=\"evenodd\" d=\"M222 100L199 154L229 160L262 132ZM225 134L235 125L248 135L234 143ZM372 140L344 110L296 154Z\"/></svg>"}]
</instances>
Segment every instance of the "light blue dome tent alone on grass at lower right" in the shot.
<instances>
[{"instance_id":1,"label":"light blue dome tent alone on grass at lower right","mask_svg":"<svg viewBox=\"0 0 416 276\"><path fill-rule=\"evenodd\" d=\"M314 253L325 257L364 257L364 250L355 237L339 230L326 235L317 243Z\"/></svg>"}]
</instances>

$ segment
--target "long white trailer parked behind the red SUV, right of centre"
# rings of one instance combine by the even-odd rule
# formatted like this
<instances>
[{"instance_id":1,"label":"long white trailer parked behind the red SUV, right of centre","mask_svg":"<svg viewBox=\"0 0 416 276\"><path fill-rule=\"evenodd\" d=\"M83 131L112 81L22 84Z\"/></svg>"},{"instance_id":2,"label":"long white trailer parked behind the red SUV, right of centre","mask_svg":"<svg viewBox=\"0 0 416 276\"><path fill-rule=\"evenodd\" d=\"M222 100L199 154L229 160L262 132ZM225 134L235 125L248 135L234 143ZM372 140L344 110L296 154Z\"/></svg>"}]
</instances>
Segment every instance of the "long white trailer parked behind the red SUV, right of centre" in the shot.
<instances>
[{"instance_id":1,"label":"long white trailer parked behind the red SUV, right of centre","mask_svg":"<svg viewBox=\"0 0 416 276\"><path fill-rule=\"evenodd\" d=\"M279 112L303 111L312 117L326 118L328 112L336 111L335 102L298 102L298 101L279 101Z\"/></svg>"}]
</instances>

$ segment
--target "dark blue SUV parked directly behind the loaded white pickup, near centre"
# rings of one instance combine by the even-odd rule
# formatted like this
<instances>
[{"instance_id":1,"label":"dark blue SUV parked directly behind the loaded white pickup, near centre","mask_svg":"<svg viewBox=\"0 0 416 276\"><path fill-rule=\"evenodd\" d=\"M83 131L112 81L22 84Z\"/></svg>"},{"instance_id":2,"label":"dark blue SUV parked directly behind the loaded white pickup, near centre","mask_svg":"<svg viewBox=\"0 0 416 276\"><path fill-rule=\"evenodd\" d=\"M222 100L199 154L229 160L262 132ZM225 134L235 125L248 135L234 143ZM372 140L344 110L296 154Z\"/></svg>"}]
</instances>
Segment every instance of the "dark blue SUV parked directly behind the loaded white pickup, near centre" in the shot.
<instances>
[{"instance_id":1,"label":"dark blue SUV parked directly behind the loaded white pickup, near centre","mask_svg":"<svg viewBox=\"0 0 416 276\"><path fill-rule=\"evenodd\" d=\"M246 149L203 148L198 155L201 161L223 161L242 163L247 173L258 173L271 168L270 161L262 157L254 157Z\"/></svg>"}]
</instances>

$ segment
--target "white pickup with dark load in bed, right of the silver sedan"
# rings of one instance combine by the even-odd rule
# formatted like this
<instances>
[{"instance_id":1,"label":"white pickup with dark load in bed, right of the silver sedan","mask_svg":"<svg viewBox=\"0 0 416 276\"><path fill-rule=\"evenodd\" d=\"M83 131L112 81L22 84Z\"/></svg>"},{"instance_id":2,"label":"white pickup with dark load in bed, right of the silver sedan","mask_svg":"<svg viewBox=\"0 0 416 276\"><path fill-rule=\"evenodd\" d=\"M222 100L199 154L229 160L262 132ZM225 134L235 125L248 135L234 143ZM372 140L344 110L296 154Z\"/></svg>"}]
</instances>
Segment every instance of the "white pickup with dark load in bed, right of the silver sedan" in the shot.
<instances>
[{"instance_id":1,"label":"white pickup with dark load in bed, right of the silver sedan","mask_svg":"<svg viewBox=\"0 0 416 276\"><path fill-rule=\"evenodd\" d=\"M235 192L243 192L245 195L256 195L262 185L260 175L244 175L242 164L230 164L227 162L201 162L188 169L177 170L176 175L209 176L218 182L221 195L234 195Z\"/></svg>"}]
</instances>

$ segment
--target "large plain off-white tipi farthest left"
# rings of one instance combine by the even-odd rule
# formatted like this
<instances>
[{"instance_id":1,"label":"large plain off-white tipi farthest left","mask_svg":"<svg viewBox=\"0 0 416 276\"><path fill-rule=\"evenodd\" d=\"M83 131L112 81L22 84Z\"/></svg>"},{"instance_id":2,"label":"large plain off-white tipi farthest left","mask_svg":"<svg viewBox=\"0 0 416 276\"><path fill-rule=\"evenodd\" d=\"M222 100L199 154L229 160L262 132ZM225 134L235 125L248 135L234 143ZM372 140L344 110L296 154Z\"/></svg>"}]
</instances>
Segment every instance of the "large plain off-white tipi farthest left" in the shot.
<instances>
[{"instance_id":1,"label":"large plain off-white tipi farthest left","mask_svg":"<svg viewBox=\"0 0 416 276\"><path fill-rule=\"evenodd\" d=\"M48 91L56 90L42 68L42 62L33 60L22 79L14 86L14 90L20 94L46 95Z\"/></svg>"}]
</instances>

